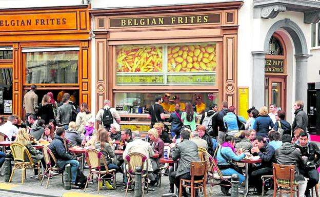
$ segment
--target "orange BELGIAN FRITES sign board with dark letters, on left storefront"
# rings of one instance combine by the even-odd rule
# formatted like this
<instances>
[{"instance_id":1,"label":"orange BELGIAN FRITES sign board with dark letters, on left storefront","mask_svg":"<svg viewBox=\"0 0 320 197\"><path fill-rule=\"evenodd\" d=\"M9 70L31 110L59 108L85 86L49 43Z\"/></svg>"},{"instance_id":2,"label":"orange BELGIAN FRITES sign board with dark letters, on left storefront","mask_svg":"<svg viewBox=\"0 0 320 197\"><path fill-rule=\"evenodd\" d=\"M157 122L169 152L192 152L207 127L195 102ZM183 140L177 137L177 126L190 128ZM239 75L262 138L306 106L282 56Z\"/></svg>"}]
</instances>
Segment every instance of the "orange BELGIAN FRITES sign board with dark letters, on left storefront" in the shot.
<instances>
[{"instance_id":1,"label":"orange BELGIAN FRITES sign board with dark letters, on left storefront","mask_svg":"<svg viewBox=\"0 0 320 197\"><path fill-rule=\"evenodd\" d=\"M0 31L76 29L76 13L0 14Z\"/></svg>"}]
</instances>

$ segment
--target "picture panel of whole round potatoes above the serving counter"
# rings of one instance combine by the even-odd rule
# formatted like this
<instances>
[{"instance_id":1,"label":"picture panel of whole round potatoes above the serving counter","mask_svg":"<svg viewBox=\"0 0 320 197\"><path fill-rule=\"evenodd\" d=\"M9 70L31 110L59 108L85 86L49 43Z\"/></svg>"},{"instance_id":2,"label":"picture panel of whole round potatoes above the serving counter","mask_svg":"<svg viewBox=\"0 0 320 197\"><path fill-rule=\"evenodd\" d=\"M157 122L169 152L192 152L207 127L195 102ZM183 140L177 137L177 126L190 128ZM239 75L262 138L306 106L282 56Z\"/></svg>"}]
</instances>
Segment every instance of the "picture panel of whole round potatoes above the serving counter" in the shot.
<instances>
[{"instance_id":1,"label":"picture panel of whole round potatoes above the serving counter","mask_svg":"<svg viewBox=\"0 0 320 197\"><path fill-rule=\"evenodd\" d=\"M204 72L215 68L215 44L168 46L168 72Z\"/></svg>"}]
</instances>

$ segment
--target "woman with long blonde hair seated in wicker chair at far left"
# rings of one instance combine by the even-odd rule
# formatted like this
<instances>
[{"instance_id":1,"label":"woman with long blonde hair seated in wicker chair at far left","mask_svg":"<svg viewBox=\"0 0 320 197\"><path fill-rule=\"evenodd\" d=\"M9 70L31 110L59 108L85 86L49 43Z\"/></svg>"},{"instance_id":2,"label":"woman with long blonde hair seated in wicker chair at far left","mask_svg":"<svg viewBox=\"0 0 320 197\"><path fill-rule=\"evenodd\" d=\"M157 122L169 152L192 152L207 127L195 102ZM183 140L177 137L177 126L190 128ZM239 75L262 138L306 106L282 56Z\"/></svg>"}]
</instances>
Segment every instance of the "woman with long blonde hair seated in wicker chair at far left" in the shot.
<instances>
[{"instance_id":1,"label":"woman with long blonde hair seated in wicker chair at far left","mask_svg":"<svg viewBox=\"0 0 320 197\"><path fill-rule=\"evenodd\" d=\"M38 161L41 161L41 164L44 168L46 168L46 162L45 158L42 155L42 152L39 150L36 150L29 139L28 132L25 128L21 128L18 130L18 134L16 135L15 141L17 143L25 145L25 147L29 150L31 154L31 158L33 163L37 163ZM26 160L28 160L28 157L25 156ZM34 179L38 176L38 169L34 169L34 176L31 176L30 179Z\"/></svg>"}]
</instances>

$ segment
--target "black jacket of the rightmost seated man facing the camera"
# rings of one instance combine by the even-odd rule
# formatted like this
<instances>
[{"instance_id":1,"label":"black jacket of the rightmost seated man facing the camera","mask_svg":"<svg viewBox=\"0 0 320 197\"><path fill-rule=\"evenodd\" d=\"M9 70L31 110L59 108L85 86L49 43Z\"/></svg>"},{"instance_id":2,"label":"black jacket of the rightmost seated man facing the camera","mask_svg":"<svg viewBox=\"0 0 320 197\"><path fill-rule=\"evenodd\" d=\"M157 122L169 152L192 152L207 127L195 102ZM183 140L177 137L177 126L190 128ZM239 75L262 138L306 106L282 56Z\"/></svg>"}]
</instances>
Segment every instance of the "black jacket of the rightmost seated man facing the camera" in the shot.
<instances>
[{"instance_id":1,"label":"black jacket of the rightmost seated man facing the camera","mask_svg":"<svg viewBox=\"0 0 320 197\"><path fill-rule=\"evenodd\" d=\"M294 144L294 146L300 149L302 156L308 157L308 162L310 163L307 165L307 168L316 169L320 166L320 150L315 143L308 142L305 147L300 146L300 144Z\"/></svg>"}]
</instances>

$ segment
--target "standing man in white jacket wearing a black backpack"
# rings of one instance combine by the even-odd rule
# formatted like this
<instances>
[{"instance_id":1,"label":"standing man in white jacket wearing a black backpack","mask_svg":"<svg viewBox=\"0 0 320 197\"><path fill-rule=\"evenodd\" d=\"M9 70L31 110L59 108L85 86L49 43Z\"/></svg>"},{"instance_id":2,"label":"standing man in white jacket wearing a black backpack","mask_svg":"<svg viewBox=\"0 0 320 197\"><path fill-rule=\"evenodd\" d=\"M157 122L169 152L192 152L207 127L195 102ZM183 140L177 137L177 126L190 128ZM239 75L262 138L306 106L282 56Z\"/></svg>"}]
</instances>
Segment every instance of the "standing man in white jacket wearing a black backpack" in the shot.
<instances>
[{"instance_id":1,"label":"standing man in white jacket wearing a black backpack","mask_svg":"<svg viewBox=\"0 0 320 197\"><path fill-rule=\"evenodd\" d=\"M107 129L107 131L110 130L111 124L119 124L121 121L120 115L113 107L110 107L110 104L110 100L105 100L104 107L98 111L95 117L95 120L98 122L98 124L101 124Z\"/></svg>"}]
</instances>

